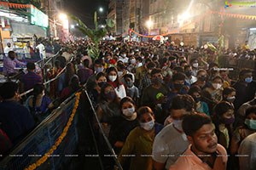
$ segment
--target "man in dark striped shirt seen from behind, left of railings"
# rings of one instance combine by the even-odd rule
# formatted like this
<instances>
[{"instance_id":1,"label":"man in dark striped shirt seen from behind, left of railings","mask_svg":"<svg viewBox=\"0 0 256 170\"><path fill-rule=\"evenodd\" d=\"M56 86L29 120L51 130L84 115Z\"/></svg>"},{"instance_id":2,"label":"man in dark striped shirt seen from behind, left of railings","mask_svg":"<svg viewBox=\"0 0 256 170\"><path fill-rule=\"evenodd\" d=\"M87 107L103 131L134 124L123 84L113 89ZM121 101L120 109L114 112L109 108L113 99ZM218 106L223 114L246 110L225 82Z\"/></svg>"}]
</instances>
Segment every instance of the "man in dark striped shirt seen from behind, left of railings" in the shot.
<instances>
[{"instance_id":1,"label":"man in dark striped shirt seen from behind, left of railings","mask_svg":"<svg viewBox=\"0 0 256 170\"><path fill-rule=\"evenodd\" d=\"M26 69L28 72L26 73L26 75L23 75L23 77L20 80L22 90L25 91L34 88L35 84L43 82L43 78L40 77L37 73L35 73L36 66L34 63L27 63Z\"/></svg>"}]
</instances>

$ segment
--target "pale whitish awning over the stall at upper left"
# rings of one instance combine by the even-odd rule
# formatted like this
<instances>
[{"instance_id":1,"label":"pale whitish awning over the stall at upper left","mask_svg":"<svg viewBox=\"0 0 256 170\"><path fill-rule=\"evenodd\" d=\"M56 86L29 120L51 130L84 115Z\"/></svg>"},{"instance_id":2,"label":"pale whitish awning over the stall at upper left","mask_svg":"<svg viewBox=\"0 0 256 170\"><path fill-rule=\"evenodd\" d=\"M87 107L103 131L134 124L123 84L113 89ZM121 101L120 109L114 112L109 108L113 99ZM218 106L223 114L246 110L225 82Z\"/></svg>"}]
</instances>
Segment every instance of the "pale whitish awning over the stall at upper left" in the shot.
<instances>
[{"instance_id":1,"label":"pale whitish awning over the stall at upper left","mask_svg":"<svg viewBox=\"0 0 256 170\"><path fill-rule=\"evenodd\" d=\"M12 34L11 37L46 37L46 29L40 26L29 25L24 22L11 22Z\"/></svg>"}]
</instances>

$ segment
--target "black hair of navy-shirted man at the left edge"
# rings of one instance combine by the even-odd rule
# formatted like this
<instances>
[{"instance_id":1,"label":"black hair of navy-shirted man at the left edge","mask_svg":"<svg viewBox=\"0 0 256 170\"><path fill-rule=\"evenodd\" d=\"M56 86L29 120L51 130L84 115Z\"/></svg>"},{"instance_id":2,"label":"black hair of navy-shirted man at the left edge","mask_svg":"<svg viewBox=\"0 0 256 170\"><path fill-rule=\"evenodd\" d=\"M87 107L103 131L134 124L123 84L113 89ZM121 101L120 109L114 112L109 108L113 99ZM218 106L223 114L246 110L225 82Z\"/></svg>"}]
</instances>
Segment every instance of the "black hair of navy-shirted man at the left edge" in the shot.
<instances>
[{"instance_id":1,"label":"black hair of navy-shirted man at the left edge","mask_svg":"<svg viewBox=\"0 0 256 170\"><path fill-rule=\"evenodd\" d=\"M16 82L4 82L0 88L0 96L3 99L12 99L18 92L18 84Z\"/></svg>"}]
</instances>

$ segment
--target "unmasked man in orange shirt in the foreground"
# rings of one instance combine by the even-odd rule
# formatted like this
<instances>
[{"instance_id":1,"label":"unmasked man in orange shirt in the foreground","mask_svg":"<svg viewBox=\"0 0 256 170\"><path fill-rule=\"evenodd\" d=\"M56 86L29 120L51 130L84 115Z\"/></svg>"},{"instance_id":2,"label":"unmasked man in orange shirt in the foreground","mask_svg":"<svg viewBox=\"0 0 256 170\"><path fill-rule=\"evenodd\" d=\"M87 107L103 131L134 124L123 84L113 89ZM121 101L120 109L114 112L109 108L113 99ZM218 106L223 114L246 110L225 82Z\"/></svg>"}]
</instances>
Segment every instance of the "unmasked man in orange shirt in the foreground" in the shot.
<instances>
[{"instance_id":1,"label":"unmasked man in orange shirt in the foreground","mask_svg":"<svg viewBox=\"0 0 256 170\"><path fill-rule=\"evenodd\" d=\"M202 113L185 116L182 127L190 145L170 170L226 170L228 155L218 144L209 116Z\"/></svg>"}]
</instances>

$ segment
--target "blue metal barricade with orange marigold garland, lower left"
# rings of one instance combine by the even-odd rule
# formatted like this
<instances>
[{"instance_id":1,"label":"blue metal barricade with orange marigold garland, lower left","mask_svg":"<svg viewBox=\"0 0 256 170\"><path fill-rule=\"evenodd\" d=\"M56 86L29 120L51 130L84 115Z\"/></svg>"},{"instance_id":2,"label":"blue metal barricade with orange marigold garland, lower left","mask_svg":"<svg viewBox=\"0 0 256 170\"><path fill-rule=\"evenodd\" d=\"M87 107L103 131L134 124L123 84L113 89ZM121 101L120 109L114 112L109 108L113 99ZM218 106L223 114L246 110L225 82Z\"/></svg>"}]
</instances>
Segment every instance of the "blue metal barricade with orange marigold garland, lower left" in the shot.
<instances>
[{"instance_id":1,"label":"blue metal barricade with orange marigold garland, lower left","mask_svg":"<svg viewBox=\"0 0 256 170\"><path fill-rule=\"evenodd\" d=\"M44 156L60 137L63 128L66 127L68 118L72 114L76 98L77 97L73 94L69 99L65 100L54 113L41 122L26 139L15 147L15 150L10 152L9 156L6 156L3 161L0 162L0 169L24 169ZM78 142L78 135L75 129L76 115L61 144L49 159L37 169L60 169L61 166L70 161L71 157L65 155L73 154Z\"/></svg>"}]
</instances>

